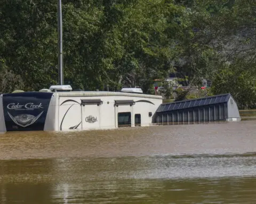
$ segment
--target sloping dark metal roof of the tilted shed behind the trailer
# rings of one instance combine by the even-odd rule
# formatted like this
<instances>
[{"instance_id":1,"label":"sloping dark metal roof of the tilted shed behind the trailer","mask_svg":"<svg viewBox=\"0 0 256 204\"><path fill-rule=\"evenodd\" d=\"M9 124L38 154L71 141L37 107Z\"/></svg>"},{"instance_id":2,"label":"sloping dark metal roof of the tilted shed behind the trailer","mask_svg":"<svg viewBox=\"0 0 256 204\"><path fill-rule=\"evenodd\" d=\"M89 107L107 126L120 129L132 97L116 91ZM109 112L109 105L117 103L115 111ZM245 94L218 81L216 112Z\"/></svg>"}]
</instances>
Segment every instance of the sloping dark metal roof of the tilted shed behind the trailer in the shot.
<instances>
[{"instance_id":1,"label":"sloping dark metal roof of the tilted shed behind the trailer","mask_svg":"<svg viewBox=\"0 0 256 204\"><path fill-rule=\"evenodd\" d=\"M177 101L173 103L161 104L157 108L156 112L159 113L159 112L166 112L166 111L175 111L179 109L194 108L198 106L225 103L225 102L228 102L230 97L231 97L230 94L222 94L222 95L216 95L216 96L209 96L205 98L182 100L182 101Z\"/></svg>"}]
</instances>

